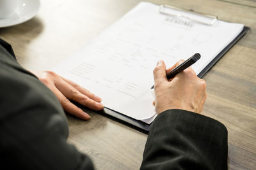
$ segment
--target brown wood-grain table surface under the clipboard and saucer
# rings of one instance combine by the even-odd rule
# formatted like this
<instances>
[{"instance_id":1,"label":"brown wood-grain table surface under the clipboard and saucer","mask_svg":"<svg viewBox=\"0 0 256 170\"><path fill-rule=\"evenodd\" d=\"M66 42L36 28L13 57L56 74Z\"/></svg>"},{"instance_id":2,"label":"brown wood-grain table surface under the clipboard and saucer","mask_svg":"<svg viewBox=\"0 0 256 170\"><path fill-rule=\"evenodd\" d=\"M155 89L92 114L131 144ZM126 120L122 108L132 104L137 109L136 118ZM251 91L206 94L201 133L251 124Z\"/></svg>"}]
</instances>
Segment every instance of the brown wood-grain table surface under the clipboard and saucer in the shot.
<instances>
[{"instance_id":1,"label":"brown wood-grain table surface under the clipboard and saucer","mask_svg":"<svg viewBox=\"0 0 256 170\"><path fill-rule=\"evenodd\" d=\"M35 18L0 29L20 64L47 70L76 52L139 0L44 0ZM228 129L229 169L256 168L256 1L152 0L217 15L251 27L204 77L204 115ZM97 169L139 169L147 135L97 113L88 122L68 116L68 141L92 158Z\"/></svg>"}]
</instances>

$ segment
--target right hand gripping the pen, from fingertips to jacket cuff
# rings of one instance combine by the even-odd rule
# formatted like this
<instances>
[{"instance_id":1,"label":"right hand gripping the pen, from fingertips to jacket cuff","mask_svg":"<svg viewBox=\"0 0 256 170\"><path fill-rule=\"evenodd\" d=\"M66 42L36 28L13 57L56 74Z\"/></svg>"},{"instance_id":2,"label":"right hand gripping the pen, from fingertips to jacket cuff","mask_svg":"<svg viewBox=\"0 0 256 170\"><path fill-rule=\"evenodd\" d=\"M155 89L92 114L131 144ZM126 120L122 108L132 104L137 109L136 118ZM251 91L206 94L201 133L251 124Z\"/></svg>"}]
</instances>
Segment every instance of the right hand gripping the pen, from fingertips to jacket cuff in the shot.
<instances>
[{"instance_id":1,"label":"right hand gripping the pen, from fingertips to jacket cuff","mask_svg":"<svg viewBox=\"0 0 256 170\"><path fill-rule=\"evenodd\" d=\"M166 73L184 60L166 70L163 60L157 62L154 69L155 80L155 106L157 114L165 110L180 109L202 113L206 100L205 81L196 76L195 71L188 67L177 74L171 81L166 78Z\"/></svg>"}]
</instances>

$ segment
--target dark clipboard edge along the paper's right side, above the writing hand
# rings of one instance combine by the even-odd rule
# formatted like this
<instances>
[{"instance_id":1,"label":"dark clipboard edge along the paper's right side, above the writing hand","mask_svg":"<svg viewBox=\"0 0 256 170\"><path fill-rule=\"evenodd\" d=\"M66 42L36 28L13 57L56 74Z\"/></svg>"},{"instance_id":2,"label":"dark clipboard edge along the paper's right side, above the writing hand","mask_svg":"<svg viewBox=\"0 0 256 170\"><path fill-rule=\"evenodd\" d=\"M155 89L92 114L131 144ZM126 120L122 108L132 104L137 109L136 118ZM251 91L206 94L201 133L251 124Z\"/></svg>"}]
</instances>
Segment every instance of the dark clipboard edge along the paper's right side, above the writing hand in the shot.
<instances>
[{"instance_id":1,"label":"dark clipboard edge along the paper's right side, above the writing hand","mask_svg":"<svg viewBox=\"0 0 256 170\"><path fill-rule=\"evenodd\" d=\"M234 46L237 41L239 41L239 39L241 39L244 34L249 30L250 27L244 26L243 30L236 36L236 38L231 41L220 53L218 53L218 55L213 60L211 60L211 62L206 67L204 67L204 69L197 76L199 78L205 76L205 74L211 69L211 67L213 67L214 64L216 64L216 62L218 62L218 60L220 60L221 57L223 57L223 55L225 55L225 53L227 53L228 50L230 50L230 48L232 48L232 46Z\"/></svg>"}]
</instances>

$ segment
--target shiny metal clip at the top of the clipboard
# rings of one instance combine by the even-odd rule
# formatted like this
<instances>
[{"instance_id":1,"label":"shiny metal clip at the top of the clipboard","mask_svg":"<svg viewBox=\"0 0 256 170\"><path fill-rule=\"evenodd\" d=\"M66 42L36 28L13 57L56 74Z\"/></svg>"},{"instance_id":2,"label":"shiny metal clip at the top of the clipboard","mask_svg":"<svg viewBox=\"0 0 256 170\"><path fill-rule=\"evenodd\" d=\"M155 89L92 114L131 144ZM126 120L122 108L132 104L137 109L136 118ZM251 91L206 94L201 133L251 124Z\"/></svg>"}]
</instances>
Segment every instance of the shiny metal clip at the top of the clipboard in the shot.
<instances>
[{"instance_id":1,"label":"shiny metal clip at the top of the clipboard","mask_svg":"<svg viewBox=\"0 0 256 170\"><path fill-rule=\"evenodd\" d=\"M166 9L169 11L167 11ZM172 10L172 12L170 12L170 10ZM175 13L173 13L173 11ZM167 4L160 5L159 13L162 13L164 15L170 15L173 17L187 18L193 22L198 22L200 24L205 24L205 25L212 25L214 24L214 22L216 22L216 20L218 20L218 17L214 15L208 15L208 14L196 12L193 10L185 10L185 9L178 8L176 6L167 5ZM186 13L188 13L189 16L186 16ZM191 17L191 15L193 17Z\"/></svg>"}]
</instances>

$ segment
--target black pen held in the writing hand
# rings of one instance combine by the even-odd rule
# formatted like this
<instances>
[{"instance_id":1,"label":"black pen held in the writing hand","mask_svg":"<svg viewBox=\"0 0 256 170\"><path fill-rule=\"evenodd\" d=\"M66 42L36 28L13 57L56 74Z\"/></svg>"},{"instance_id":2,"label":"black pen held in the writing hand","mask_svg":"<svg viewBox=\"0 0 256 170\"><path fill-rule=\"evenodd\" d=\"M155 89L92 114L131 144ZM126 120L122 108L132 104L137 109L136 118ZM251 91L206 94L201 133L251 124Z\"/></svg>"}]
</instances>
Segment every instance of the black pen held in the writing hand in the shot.
<instances>
[{"instance_id":1,"label":"black pen held in the writing hand","mask_svg":"<svg viewBox=\"0 0 256 170\"><path fill-rule=\"evenodd\" d=\"M176 74L180 73L184 69L188 68L192 64L194 64L197 60L199 60L201 57L200 53L195 53L192 57L190 57L188 60L182 62L179 66L175 67L172 71L170 71L168 74L166 74L166 77L168 80L173 78ZM151 87L151 89L154 89L154 85Z\"/></svg>"}]
</instances>

